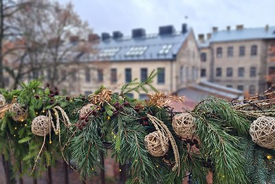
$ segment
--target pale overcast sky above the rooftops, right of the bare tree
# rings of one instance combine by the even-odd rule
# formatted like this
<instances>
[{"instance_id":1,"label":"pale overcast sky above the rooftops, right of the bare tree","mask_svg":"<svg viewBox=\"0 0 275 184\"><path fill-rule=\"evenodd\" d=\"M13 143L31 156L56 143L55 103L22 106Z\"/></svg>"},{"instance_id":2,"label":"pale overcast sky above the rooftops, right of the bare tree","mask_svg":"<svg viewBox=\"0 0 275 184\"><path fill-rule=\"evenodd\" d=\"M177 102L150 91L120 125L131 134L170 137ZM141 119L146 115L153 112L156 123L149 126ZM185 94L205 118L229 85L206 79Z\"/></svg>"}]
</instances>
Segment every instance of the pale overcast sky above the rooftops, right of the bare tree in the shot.
<instances>
[{"instance_id":1,"label":"pale overcast sky above the rooftops, right of the bare tree","mask_svg":"<svg viewBox=\"0 0 275 184\"><path fill-rule=\"evenodd\" d=\"M186 22L195 34L211 32L212 26L245 28L275 25L275 0L58 0L71 1L80 17L95 33L120 30L130 35L133 28L155 33L159 25L180 30ZM188 19L185 19L188 17Z\"/></svg>"}]
</instances>

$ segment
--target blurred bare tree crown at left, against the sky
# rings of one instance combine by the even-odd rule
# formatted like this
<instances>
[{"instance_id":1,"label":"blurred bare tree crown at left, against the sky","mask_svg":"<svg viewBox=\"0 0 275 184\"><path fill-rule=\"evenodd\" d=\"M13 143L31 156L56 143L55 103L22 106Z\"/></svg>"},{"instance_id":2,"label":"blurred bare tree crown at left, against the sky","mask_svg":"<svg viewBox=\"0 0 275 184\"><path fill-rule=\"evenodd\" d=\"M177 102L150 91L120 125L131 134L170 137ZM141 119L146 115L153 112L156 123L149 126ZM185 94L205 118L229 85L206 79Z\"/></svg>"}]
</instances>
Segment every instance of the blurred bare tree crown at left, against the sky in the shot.
<instances>
[{"instance_id":1,"label":"blurred bare tree crown at left, against the sky","mask_svg":"<svg viewBox=\"0 0 275 184\"><path fill-rule=\"evenodd\" d=\"M6 19L13 28L8 43L18 43L8 48L9 62L2 68L12 77L13 88L27 75L33 79L47 76L47 81L54 86L65 79L58 77L58 69L62 65L66 65L65 68L75 65L76 57L87 52L83 50L85 43L80 46L80 42L91 30L74 12L71 3L62 6L50 0L20 2L24 2L24 6Z\"/></svg>"}]
</instances>

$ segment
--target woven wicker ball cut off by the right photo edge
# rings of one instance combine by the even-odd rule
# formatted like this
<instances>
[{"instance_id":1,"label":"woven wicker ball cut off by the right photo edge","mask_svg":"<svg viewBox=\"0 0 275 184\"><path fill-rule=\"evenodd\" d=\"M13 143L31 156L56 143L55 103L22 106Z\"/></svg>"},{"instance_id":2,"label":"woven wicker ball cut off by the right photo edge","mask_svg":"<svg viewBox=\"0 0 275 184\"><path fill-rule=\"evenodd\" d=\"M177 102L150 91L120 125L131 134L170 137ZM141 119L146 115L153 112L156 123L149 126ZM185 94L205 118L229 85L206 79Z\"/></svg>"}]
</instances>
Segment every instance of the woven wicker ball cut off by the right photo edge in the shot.
<instances>
[{"instance_id":1,"label":"woven wicker ball cut off by the right photo edge","mask_svg":"<svg viewBox=\"0 0 275 184\"><path fill-rule=\"evenodd\" d=\"M261 116L250 126L250 136L254 143L267 149L275 148L275 118Z\"/></svg>"}]
</instances>

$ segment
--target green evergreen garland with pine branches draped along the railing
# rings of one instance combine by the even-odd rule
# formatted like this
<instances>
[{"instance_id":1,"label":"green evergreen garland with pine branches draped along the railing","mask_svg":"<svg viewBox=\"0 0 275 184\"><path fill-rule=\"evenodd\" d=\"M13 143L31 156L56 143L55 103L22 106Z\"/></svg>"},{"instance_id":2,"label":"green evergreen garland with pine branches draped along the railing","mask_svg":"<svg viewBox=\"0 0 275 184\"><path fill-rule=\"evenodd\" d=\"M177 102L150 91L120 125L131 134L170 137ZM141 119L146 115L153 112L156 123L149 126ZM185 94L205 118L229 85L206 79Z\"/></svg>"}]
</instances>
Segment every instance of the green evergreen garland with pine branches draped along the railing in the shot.
<instances>
[{"instance_id":1,"label":"green evergreen garland with pine branches draped along the railing","mask_svg":"<svg viewBox=\"0 0 275 184\"><path fill-rule=\"evenodd\" d=\"M133 91L148 92L147 88L155 90L151 85L154 76L152 73L143 83L134 80L124 85L120 94L112 94L102 86L90 96L58 96L55 90L41 88L39 81L23 83L22 90L1 90L8 104L17 101L25 105L28 117L17 122L12 119L12 113L5 112L0 120L0 151L5 159L12 156L14 171L19 172L22 167L21 176L32 171L32 176L39 176L62 158L81 177L89 178L103 169L102 155L106 154L106 145L110 145L118 163L129 169L126 183L181 183L190 174L193 181L206 183L208 172L213 173L214 183L275 183L274 150L256 145L248 134L250 123L258 113L255 109L251 114L248 105L244 109L240 103L235 105L210 97L189 112L195 117L195 134L179 137L171 121L181 112L126 96ZM89 103L94 103L95 108L80 119L80 109ZM66 112L72 126L61 119L61 112L54 116L56 112L52 108L56 106ZM264 112L271 113L265 110L259 114ZM59 119L61 131L56 134L52 131L44 137L32 134L32 120L49 113L55 123ZM172 170L176 162L171 146L164 156L148 154L144 137L154 132L155 127L147 114L162 121L175 139L178 170Z\"/></svg>"}]
</instances>

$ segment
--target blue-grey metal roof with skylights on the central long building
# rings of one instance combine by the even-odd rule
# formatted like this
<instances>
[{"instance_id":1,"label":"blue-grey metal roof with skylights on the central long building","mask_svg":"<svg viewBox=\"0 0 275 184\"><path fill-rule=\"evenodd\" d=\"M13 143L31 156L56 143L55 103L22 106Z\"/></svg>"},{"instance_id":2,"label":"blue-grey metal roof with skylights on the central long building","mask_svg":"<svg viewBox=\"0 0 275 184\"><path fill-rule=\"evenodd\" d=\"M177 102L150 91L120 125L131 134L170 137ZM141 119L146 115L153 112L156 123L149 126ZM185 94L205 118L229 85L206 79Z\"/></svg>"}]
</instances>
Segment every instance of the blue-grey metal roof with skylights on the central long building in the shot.
<instances>
[{"instance_id":1,"label":"blue-grey metal roof with skylights on the central long building","mask_svg":"<svg viewBox=\"0 0 275 184\"><path fill-rule=\"evenodd\" d=\"M188 31L183 34L181 32L175 32L174 34L146 34L146 37L141 38L131 38L122 37L120 39L110 38L108 41L102 41L94 45L93 48L98 50L94 55L83 54L79 60L107 60L107 61L144 61L144 60L175 60L181 45L186 41L188 34L192 32L192 28L188 28ZM164 45L171 45L167 49L167 52L159 53ZM140 49L140 55L131 55L135 52L133 48L137 51ZM129 52L132 48L133 52ZM104 52L104 50L106 52ZM144 52L142 52L144 51ZM165 51L165 49L164 49ZM115 52L115 54L113 54ZM128 54L127 54L128 53ZM101 55L100 55L101 54ZM113 56L108 57L113 54ZM105 57L102 57L104 56ZM130 56L131 55L131 56ZM101 56L101 57L100 57Z\"/></svg>"}]
</instances>

